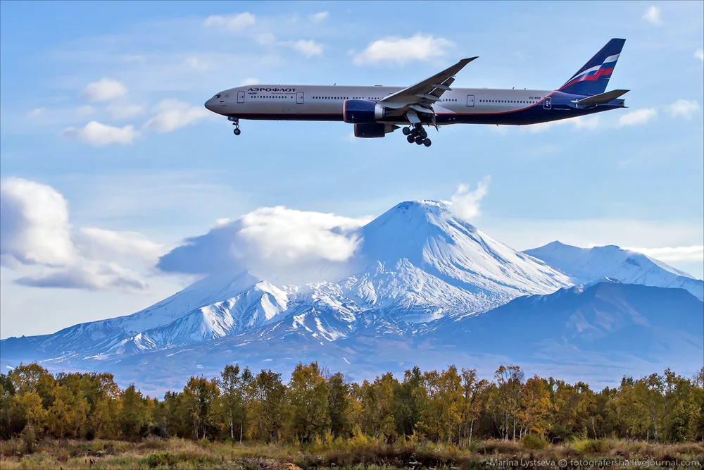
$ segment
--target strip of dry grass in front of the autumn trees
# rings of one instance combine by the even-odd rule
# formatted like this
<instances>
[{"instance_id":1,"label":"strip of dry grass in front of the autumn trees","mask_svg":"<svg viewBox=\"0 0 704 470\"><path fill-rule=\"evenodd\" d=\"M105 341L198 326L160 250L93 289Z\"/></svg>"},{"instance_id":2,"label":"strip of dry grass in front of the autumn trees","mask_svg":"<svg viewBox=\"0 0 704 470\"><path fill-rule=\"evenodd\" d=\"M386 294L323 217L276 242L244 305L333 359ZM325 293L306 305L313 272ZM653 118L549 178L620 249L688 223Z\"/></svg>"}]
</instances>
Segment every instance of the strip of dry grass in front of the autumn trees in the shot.
<instances>
[{"instance_id":1,"label":"strip of dry grass in front of the autumn trees","mask_svg":"<svg viewBox=\"0 0 704 470\"><path fill-rule=\"evenodd\" d=\"M542 447L529 445L528 447ZM0 441L0 469L702 469L702 443L655 445L624 440L576 440L528 449L482 440L469 450L441 445L240 445L191 440L43 440L25 452L20 440ZM562 462L560 462L562 461Z\"/></svg>"}]
</instances>

